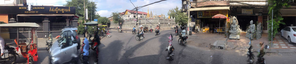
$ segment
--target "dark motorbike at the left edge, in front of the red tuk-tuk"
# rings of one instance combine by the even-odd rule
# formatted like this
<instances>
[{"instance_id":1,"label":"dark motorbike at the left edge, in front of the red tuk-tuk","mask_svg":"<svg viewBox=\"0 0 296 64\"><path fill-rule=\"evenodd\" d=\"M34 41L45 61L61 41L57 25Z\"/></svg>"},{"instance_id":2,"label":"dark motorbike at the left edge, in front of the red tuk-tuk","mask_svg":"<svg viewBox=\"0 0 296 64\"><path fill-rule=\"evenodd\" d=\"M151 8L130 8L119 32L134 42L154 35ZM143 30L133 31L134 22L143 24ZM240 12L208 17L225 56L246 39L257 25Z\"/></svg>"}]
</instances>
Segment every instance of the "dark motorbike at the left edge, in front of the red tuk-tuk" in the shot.
<instances>
[{"instance_id":1,"label":"dark motorbike at the left edge, in front of the red tuk-tuk","mask_svg":"<svg viewBox=\"0 0 296 64\"><path fill-rule=\"evenodd\" d=\"M5 49L5 52L4 52L4 55L0 57L0 63L14 64L15 61L17 60L16 55L18 55L15 52L15 48L4 45L4 49Z\"/></svg>"}]
</instances>

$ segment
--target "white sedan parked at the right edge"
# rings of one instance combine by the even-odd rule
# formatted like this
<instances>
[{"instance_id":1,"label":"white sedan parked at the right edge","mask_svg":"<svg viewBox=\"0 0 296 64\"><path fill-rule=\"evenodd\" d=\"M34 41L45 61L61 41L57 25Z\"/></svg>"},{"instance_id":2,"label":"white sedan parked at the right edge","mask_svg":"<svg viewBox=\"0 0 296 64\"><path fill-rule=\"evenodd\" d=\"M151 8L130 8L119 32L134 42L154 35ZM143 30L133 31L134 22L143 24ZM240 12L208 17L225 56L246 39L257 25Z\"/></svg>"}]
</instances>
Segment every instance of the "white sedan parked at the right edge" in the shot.
<instances>
[{"instance_id":1,"label":"white sedan parked at the right edge","mask_svg":"<svg viewBox=\"0 0 296 64\"><path fill-rule=\"evenodd\" d=\"M289 26L284 29L281 29L281 37L286 38L289 41L289 44L296 42L296 26Z\"/></svg>"}]
</instances>

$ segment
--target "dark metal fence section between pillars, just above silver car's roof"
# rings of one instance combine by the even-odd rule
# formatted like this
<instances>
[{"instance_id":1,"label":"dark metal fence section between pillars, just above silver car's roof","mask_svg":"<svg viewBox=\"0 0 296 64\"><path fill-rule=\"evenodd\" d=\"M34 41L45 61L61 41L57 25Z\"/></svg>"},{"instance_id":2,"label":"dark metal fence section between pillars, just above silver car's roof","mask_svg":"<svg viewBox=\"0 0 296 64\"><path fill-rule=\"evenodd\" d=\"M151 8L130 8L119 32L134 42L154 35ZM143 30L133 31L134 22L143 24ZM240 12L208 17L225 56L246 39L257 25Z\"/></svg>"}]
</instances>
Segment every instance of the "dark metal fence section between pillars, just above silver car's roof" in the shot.
<instances>
[{"instance_id":1,"label":"dark metal fence section between pillars, just above silver car's roof","mask_svg":"<svg viewBox=\"0 0 296 64\"><path fill-rule=\"evenodd\" d=\"M50 23L50 31L61 31L65 26L67 26L66 22L52 22Z\"/></svg>"}]
</instances>

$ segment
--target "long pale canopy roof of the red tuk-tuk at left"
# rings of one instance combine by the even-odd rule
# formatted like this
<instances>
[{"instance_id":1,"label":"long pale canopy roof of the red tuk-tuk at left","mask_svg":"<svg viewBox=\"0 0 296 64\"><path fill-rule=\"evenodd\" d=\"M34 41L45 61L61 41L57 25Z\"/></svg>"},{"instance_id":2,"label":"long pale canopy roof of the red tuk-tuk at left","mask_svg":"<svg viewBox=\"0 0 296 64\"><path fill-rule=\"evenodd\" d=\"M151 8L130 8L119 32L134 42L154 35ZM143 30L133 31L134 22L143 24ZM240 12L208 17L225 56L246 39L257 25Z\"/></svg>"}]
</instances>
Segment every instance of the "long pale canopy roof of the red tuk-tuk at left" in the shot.
<instances>
[{"instance_id":1,"label":"long pale canopy roof of the red tuk-tuk at left","mask_svg":"<svg viewBox=\"0 0 296 64\"><path fill-rule=\"evenodd\" d=\"M40 25L37 23L7 23L0 24L1 28L38 28Z\"/></svg>"}]
</instances>

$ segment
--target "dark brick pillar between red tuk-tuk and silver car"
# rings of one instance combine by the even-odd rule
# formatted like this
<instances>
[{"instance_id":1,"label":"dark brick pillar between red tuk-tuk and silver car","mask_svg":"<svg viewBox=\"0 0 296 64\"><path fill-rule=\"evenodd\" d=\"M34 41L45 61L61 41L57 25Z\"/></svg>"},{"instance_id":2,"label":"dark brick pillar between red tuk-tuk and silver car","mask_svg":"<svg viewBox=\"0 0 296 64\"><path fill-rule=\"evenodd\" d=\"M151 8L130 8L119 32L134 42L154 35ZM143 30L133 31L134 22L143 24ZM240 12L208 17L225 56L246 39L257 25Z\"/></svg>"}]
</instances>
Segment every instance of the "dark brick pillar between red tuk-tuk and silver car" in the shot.
<instances>
[{"instance_id":1,"label":"dark brick pillar between red tuk-tuk and silver car","mask_svg":"<svg viewBox=\"0 0 296 64\"><path fill-rule=\"evenodd\" d=\"M49 36L49 30L50 30L49 22L50 21L48 20L48 18L44 18L44 20L42 21L42 23L43 23L43 31L44 31L44 35L46 35L46 37ZM43 37L43 36L41 36L41 37ZM46 37L43 37L43 38L46 38Z\"/></svg>"}]
</instances>

